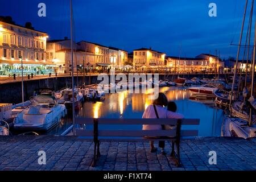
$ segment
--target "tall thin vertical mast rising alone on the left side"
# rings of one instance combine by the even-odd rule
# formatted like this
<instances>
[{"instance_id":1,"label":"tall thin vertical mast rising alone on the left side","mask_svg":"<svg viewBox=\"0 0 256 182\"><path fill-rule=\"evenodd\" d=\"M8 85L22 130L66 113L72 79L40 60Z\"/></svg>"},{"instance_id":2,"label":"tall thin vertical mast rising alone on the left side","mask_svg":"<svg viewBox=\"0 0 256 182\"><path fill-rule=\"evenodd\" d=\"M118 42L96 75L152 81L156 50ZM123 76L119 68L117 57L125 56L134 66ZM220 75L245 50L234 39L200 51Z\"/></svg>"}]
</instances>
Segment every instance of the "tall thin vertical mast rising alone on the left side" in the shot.
<instances>
[{"instance_id":1,"label":"tall thin vertical mast rising alone on the left side","mask_svg":"<svg viewBox=\"0 0 256 182\"><path fill-rule=\"evenodd\" d=\"M73 120L73 135L75 135L75 90L74 90L74 63L73 63L73 8L72 0L70 0L70 34L71 34L71 64L72 64L72 120Z\"/></svg>"}]
</instances>

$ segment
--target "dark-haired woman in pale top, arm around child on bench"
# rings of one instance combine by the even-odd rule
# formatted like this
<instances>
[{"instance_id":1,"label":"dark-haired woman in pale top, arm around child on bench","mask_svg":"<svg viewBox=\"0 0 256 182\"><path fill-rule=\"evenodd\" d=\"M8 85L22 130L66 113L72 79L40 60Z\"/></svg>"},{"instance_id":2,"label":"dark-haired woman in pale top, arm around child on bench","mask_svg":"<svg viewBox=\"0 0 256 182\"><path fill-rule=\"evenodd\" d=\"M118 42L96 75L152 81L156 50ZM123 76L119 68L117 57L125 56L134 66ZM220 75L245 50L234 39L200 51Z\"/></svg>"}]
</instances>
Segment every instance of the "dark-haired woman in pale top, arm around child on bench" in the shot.
<instances>
[{"instance_id":1,"label":"dark-haired woman in pale top, arm around child on bench","mask_svg":"<svg viewBox=\"0 0 256 182\"><path fill-rule=\"evenodd\" d=\"M150 118L176 118L182 119L184 118L182 114L174 113L172 111L164 108L168 105L167 97L164 93L159 93L159 96L156 100L154 100L153 105L147 107L144 111L142 118L150 119ZM142 130L164 130L164 126L162 125L143 125ZM164 141L159 141L159 148L161 148L162 154L166 154L164 152ZM156 152L158 149L154 147L154 141L150 141L151 152Z\"/></svg>"}]
</instances>

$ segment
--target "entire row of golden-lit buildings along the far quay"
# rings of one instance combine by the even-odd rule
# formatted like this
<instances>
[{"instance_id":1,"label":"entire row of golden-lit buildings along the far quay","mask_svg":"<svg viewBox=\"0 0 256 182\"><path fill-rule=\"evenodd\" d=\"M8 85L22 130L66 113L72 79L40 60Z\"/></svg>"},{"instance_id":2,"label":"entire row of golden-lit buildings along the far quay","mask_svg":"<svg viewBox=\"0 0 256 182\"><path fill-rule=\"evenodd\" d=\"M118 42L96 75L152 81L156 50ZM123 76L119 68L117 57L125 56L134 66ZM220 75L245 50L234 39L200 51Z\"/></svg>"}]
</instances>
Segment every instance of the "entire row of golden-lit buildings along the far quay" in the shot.
<instances>
[{"instance_id":1,"label":"entire row of golden-lit buildings along the far quay","mask_svg":"<svg viewBox=\"0 0 256 182\"><path fill-rule=\"evenodd\" d=\"M47 40L46 32L37 31L31 24L19 26L0 19L0 75L25 73L71 72L71 40ZM171 72L224 72L225 61L207 53L194 58L167 56L151 48L123 49L80 41L73 43L75 72L115 70L171 71ZM233 61L234 62L234 61ZM233 67L234 68L234 67ZM245 69L244 64L239 68Z\"/></svg>"}]
</instances>

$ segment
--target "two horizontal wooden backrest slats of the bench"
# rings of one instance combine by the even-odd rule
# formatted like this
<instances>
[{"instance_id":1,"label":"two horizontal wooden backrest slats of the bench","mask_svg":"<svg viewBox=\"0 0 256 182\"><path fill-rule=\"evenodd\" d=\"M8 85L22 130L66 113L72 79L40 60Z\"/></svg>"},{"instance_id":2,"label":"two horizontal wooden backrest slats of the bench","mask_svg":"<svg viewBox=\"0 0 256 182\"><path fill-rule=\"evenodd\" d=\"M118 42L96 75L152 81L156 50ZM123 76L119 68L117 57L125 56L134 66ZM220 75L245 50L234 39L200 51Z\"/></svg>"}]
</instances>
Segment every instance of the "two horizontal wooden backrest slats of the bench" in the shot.
<instances>
[{"instance_id":1,"label":"two horizontal wooden backrest slats of the bench","mask_svg":"<svg viewBox=\"0 0 256 182\"><path fill-rule=\"evenodd\" d=\"M198 130L181 130L181 125L199 125L199 119L108 119L108 118L76 118L76 124L93 125L93 130L76 129L75 134L82 137L195 137ZM172 125L172 130L105 130L99 125Z\"/></svg>"}]
</instances>

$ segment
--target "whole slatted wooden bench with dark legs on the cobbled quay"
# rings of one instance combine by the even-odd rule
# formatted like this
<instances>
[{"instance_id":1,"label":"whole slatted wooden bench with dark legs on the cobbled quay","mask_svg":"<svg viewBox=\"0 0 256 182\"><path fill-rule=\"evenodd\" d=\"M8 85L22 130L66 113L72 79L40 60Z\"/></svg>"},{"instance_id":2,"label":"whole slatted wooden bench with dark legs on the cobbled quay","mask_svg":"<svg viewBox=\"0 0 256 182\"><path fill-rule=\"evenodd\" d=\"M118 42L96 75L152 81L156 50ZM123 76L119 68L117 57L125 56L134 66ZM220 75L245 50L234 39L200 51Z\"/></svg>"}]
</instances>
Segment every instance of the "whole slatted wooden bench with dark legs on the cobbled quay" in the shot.
<instances>
[{"instance_id":1,"label":"whole slatted wooden bench with dark legs on the cobbled quay","mask_svg":"<svg viewBox=\"0 0 256 182\"><path fill-rule=\"evenodd\" d=\"M75 129L75 135L84 137L94 142L94 157L92 166L96 166L96 161L100 157L100 141L172 141L171 156L180 165L180 138L196 137L198 130L181 130L181 125L199 125L199 119L106 119L106 118L76 118L75 124L93 125L93 130ZM99 130L99 125L172 125L172 130ZM141 126L142 127L142 126ZM148 138L154 136L161 138ZM163 137L168 136L168 137ZM110 138L107 138L110 137ZM114 137L114 138L113 138ZM175 143L177 154L175 153ZM96 152L97 151L97 152Z\"/></svg>"}]
</instances>

